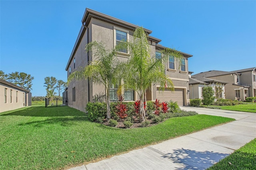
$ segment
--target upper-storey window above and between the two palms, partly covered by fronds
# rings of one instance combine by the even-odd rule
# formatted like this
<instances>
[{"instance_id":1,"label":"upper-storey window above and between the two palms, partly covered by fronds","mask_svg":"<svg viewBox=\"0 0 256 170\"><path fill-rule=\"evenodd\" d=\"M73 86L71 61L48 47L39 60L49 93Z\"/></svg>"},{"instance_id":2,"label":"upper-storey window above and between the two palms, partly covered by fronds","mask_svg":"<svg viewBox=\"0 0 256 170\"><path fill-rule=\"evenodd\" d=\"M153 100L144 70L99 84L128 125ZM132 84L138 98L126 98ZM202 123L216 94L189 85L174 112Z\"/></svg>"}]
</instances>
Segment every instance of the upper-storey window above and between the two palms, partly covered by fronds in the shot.
<instances>
[{"instance_id":1,"label":"upper-storey window above and between the two palms, partly covered by fronds","mask_svg":"<svg viewBox=\"0 0 256 170\"><path fill-rule=\"evenodd\" d=\"M129 40L129 31L114 26L114 46L116 46L118 43L126 42L128 40ZM124 55L128 54L127 47L124 47L123 49L119 49L118 51L120 53L124 53ZM120 55L122 55L122 54L120 54Z\"/></svg>"}]
</instances>

